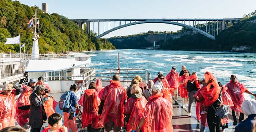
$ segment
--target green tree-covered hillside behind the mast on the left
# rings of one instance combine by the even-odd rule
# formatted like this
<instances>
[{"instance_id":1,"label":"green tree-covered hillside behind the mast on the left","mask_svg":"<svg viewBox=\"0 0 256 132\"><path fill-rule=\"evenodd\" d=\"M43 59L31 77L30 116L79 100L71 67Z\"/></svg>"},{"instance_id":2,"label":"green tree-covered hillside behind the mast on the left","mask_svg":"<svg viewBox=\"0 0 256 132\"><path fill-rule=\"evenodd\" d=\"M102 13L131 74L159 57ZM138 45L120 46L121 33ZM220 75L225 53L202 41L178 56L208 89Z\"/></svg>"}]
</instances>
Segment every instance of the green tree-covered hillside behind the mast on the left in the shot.
<instances>
[{"instance_id":1,"label":"green tree-covered hillside behind the mast on the left","mask_svg":"<svg viewBox=\"0 0 256 132\"><path fill-rule=\"evenodd\" d=\"M21 43L26 43L26 51L32 50L32 28L26 24L37 9L37 17L40 18L39 50L50 52L96 50L85 30L82 30L74 22L57 13L43 13L38 7L29 7L18 1L0 0L0 51L19 52L19 45L3 45L7 37L21 34ZM85 27L86 28L86 27ZM113 45L107 41L97 40L100 49L113 49ZM106 44L106 46L104 46Z\"/></svg>"}]
</instances>

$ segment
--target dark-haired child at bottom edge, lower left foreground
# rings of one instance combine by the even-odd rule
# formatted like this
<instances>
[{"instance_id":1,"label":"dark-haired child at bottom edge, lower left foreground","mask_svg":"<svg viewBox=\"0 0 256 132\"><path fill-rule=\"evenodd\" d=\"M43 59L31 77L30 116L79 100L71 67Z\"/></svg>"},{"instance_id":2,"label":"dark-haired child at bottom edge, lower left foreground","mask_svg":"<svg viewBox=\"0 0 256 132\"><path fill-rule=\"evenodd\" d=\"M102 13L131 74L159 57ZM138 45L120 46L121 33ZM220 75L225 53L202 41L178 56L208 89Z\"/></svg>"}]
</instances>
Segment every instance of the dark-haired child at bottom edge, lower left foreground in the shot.
<instances>
[{"instance_id":1,"label":"dark-haired child at bottom edge, lower left foreground","mask_svg":"<svg viewBox=\"0 0 256 132\"><path fill-rule=\"evenodd\" d=\"M42 132L68 132L68 129L62 124L62 117L59 113L54 113L48 118L48 128L45 128Z\"/></svg>"}]
</instances>

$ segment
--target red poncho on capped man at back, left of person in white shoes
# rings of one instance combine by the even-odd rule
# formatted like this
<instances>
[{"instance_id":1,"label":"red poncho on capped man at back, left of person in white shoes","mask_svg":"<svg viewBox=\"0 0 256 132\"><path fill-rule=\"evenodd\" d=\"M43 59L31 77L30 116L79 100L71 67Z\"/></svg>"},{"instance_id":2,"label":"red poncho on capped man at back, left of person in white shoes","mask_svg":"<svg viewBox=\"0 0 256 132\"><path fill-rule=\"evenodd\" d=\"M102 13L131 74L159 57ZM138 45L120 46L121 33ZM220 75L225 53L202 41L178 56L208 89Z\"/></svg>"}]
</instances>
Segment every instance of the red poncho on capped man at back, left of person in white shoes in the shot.
<instances>
[{"instance_id":1,"label":"red poncho on capped man at back, left of person in white shoes","mask_svg":"<svg viewBox=\"0 0 256 132\"><path fill-rule=\"evenodd\" d=\"M171 88L177 89L179 87L180 75L178 72L173 73L173 71L171 71L165 78L167 79Z\"/></svg>"}]
</instances>

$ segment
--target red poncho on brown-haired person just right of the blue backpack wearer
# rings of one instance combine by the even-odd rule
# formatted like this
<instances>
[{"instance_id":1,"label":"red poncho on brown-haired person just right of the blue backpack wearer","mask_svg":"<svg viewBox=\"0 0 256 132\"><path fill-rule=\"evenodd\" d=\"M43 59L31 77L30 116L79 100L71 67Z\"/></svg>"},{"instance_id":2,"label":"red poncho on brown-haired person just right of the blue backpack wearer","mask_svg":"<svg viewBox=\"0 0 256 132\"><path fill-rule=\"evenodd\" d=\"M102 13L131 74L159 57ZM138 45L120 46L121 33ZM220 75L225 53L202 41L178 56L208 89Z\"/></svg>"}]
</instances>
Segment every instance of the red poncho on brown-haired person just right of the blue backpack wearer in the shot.
<instances>
[{"instance_id":1,"label":"red poncho on brown-haired person just right of the blue backpack wearer","mask_svg":"<svg viewBox=\"0 0 256 132\"><path fill-rule=\"evenodd\" d=\"M82 112L82 125L88 127L89 124L92 124L92 128L99 127L99 105L100 99L98 98L98 92L95 89L87 89L85 93L78 101L78 104L83 106Z\"/></svg>"}]
</instances>

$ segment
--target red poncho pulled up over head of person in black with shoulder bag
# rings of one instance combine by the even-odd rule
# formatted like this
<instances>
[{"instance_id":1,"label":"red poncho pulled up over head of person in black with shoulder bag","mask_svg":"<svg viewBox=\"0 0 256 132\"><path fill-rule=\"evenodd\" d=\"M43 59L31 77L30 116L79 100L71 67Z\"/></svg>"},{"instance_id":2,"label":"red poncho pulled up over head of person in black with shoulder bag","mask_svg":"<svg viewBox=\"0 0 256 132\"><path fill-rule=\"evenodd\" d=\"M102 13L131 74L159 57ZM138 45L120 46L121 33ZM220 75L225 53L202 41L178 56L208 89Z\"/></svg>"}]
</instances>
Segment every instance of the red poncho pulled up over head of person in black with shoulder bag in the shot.
<instances>
[{"instance_id":1,"label":"red poncho pulled up over head of person in black with shoulder bag","mask_svg":"<svg viewBox=\"0 0 256 132\"><path fill-rule=\"evenodd\" d=\"M205 82L208 82L209 79L214 79L214 81L207 86L203 86L199 91L202 94L202 96L205 99L205 105L211 106L219 97L220 94L220 87L218 84L217 79L213 76L212 73L206 71L204 74L205 76ZM210 89L211 85L213 85L213 88Z\"/></svg>"}]
</instances>

